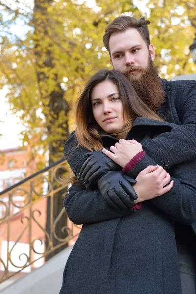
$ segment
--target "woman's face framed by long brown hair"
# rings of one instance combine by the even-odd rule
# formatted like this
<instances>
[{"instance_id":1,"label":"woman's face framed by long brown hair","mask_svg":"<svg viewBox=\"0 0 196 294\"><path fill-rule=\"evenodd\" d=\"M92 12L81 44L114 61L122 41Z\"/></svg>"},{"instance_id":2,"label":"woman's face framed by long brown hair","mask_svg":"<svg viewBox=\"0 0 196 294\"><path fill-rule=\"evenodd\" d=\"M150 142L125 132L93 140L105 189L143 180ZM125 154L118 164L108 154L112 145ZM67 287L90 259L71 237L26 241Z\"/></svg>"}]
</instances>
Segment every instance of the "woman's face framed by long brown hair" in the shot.
<instances>
[{"instance_id":1,"label":"woman's face framed by long brown hair","mask_svg":"<svg viewBox=\"0 0 196 294\"><path fill-rule=\"evenodd\" d=\"M105 132L123 130L123 104L113 82L106 80L97 84L91 91L91 103L94 118Z\"/></svg>"}]
</instances>

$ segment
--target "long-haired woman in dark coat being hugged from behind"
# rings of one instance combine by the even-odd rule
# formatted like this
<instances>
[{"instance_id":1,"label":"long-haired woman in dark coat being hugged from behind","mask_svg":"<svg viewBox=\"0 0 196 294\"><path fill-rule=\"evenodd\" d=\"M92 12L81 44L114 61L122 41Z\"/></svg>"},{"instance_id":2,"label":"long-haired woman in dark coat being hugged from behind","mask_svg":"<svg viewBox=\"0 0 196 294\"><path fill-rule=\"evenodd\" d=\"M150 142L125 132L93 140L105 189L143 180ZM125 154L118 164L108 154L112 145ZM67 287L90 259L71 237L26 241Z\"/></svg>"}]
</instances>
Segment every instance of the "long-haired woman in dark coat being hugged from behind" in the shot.
<instances>
[{"instance_id":1,"label":"long-haired woman in dark coat being hugged from behind","mask_svg":"<svg viewBox=\"0 0 196 294\"><path fill-rule=\"evenodd\" d=\"M153 113L123 74L102 70L78 100L76 126L80 147L97 151L82 167L82 176L76 176L93 182L94 190L73 185L64 200L71 221L83 227L67 261L60 294L181 294L175 223L196 221L196 163L172 168L170 179L141 144L128 141L142 143L175 125ZM103 157L98 151L103 146L119 165ZM110 147L113 154L108 153ZM99 160L92 164L94 157ZM101 162L106 166L103 174L97 168ZM133 187L119 166L136 178Z\"/></svg>"}]
</instances>

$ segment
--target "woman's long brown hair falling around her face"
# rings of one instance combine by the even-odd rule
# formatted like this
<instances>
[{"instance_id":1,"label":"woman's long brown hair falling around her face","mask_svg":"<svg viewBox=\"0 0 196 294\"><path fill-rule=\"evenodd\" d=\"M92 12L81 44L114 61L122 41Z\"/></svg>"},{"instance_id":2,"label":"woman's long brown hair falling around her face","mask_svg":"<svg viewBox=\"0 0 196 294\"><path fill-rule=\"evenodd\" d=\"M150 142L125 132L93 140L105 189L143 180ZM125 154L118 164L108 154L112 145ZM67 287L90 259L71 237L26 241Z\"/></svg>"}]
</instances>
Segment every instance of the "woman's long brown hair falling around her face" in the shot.
<instances>
[{"instance_id":1,"label":"woman's long brown hair falling around her face","mask_svg":"<svg viewBox=\"0 0 196 294\"><path fill-rule=\"evenodd\" d=\"M120 133L128 132L137 117L145 117L163 121L154 111L152 111L136 94L129 80L116 70L103 69L94 74L87 82L82 94L78 98L76 105L76 130L75 134L78 144L89 151L101 150L103 147L100 136L101 128L95 121L91 104L92 89L99 83L110 80L118 90L123 103L123 120L126 127Z\"/></svg>"}]
</instances>

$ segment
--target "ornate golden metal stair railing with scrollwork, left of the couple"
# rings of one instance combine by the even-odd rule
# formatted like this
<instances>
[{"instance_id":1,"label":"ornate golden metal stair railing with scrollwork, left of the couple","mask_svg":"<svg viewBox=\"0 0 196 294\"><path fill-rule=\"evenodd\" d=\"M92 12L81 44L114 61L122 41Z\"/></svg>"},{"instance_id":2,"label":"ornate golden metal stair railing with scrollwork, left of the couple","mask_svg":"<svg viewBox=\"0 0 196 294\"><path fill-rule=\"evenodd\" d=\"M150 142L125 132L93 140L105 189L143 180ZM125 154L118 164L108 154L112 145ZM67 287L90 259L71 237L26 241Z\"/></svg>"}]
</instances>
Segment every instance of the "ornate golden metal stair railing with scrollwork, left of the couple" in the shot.
<instances>
[{"instance_id":1,"label":"ornate golden metal stair railing with scrollwork, left of the couple","mask_svg":"<svg viewBox=\"0 0 196 294\"><path fill-rule=\"evenodd\" d=\"M61 228L65 237L59 237L57 233L59 220L67 218L63 198L68 187L59 178L62 171L69 174L65 158L0 192L0 283L20 271L31 271L35 262L40 260L40 264L44 263L49 253L78 235L80 227L71 222L67 226L66 221ZM54 217L54 200L59 192L62 192L62 209ZM49 198L50 209L47 211ZM50 214L49 230L47 213ZM77 227L75 236L74 227Z\"/></svg>"}]
</instances>

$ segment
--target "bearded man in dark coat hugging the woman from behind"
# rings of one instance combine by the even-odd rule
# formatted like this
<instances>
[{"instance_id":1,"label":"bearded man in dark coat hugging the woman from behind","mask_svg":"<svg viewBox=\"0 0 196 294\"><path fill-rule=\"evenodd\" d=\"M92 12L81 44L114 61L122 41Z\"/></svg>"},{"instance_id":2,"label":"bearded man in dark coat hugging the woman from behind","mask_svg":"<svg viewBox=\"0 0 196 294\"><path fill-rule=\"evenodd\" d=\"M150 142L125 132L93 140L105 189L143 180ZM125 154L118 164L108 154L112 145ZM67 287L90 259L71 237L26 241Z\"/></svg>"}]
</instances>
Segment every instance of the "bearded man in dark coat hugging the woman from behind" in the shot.
<instances>
[{"instance_id":1,"label":"bearded man in dark coat hugging the woman from behind","mask_svg":"<svg viewBox=\"0 0 196 294\"><path fill-rule=\"evenodd\" d=\"M114 69L129 78L138 96L164 120L178 125L170 133L163 133L143 145L148 156L165 169L169 169L173 165L196 159L196 82L168 82L159 78L153 67L155 51L150 44L147 27L149 24L144 18L136 20L133 17L120 16L106 27L103 42ZM73 149L73 146L76 146L74 133L64 146L64 155L77 178L87 185L88 183L82 181L81 167L88 156L85 149L80 148L78 153L75 151L78 151L77 148L72 153L72 158L77 153L74 160L69 160L69 150ZM94 164L96 170L100 162L95 161ZM180 263L184 258L180 250L182 246L185 256L191 252L188 258L192 259L195 254L195 233L196 223L192 226L176 224ZM186 263L190 269L186 268ZM192 279L196 275L195 268L196 265L189 263L188 259L181 267L183 294L196 293L195 279Z\"/></svg>"}]
</instances>

